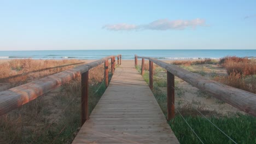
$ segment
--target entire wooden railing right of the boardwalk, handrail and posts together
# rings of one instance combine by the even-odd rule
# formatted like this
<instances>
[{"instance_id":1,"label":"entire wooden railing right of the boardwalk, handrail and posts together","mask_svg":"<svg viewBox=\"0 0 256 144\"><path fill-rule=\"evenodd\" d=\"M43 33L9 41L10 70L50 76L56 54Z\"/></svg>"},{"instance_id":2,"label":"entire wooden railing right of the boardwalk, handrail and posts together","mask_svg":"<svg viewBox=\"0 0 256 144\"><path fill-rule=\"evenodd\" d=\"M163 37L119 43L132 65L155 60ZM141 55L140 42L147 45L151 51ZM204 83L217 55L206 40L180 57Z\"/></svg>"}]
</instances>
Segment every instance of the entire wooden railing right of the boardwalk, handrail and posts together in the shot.
<instances>
[{"instance_id":1,"label":"entire wooden railing right of the boardwalk, handrail and posts together","mask_svg":"<svg viewBox=\"0 0 256 144\"><path fill-rule=\"evenodd\" d=\"M256 116L256 94L209 80L199 74L168 64L151 57L135 55L135 66L142 58L141 74L144 73L144 59L149 60L149 87L153 88L153 62L167 70L167 119L174 118L174 75L199 88L213 97L223 100L237 109Z\"/></svg>"}]
</instances>

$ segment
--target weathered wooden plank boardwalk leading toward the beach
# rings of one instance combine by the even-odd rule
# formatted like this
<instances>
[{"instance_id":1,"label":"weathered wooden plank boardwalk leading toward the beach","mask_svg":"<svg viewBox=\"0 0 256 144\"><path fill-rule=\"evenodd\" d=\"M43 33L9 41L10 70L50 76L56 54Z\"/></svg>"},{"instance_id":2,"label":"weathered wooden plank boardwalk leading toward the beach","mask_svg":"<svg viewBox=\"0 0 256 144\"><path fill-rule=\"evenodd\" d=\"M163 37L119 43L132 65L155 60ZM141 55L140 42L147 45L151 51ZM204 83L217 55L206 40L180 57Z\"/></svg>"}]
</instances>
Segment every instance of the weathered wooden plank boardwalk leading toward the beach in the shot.
<instances>
[{"instance_id":1,"label":"weathered wooden plank boardwalk leading toward the beach","mask_svg":"<svg viewBox=\"0 0 256 144\"><path fill-rule=\"evenodd\" d=\"M73 143L179 143L153 93L123 61Z\"/></svg>"}]
</instances>

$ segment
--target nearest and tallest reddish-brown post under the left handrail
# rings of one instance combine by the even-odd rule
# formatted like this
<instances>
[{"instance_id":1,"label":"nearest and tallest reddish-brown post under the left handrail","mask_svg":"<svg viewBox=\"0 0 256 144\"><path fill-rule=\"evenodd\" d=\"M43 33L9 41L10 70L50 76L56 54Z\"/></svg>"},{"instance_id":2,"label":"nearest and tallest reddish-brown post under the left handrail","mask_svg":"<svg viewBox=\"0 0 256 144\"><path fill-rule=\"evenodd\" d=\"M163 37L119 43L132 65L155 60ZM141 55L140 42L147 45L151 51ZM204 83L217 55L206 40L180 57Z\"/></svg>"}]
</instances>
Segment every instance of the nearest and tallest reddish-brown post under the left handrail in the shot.
<instances>
[{"instance_id":1,"label":"nearest and tallest reddish-brown post under the left handrail","mask_svg":"<svg viewBox=\"0 0 256 144\"><path fill-rule=\"evenodd\" d=\"M81 75L81 86L82 86L82 100L81 100L81 106L82 106L82 115L81 115L81 125L84 124L84 122L89 117L89 103L88 103L88 96L89 96L89 70L86 71Z\"/></svg>"}]
</instances>

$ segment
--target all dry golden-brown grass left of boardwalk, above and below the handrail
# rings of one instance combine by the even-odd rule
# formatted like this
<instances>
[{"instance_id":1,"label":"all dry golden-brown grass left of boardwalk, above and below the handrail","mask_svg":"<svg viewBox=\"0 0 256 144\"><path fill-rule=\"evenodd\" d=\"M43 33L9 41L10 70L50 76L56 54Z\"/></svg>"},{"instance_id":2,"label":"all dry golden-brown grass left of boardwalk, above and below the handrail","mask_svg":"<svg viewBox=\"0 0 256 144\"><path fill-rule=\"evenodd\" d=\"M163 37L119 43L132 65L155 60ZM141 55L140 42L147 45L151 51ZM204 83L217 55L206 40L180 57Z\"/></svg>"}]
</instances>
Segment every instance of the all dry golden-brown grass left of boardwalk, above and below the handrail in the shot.
<instances>
[{"instance_id":1,"label":"all dry golden-brown grass left of boardwalk, above and below the handrail","mask_svg":"<svg viewBox=\"0 0 256 144\"><path fill-rule=\"evenodd\" d=\"M67 63L80 61L46 61L20 59L1 64L5 71L15 74L26 74L26 71L56 67ZM41 65L42 67L37 66ZM68 67L72 68L74 66ZM21 68L20 70L17 70ZM22 80L32 77L31 80L58 73L68 68L57 68L15 77L7 82L15 85ZM109 70L110 73L110 70ZM39 76L38 76L39 75ZM8 73L2 75L8 77ZM89 70L89 110L97 104L104 92L104 64ZM77 79L65 83L60 88L49 92L30 103L19 107L0 117L0 143L72 143L74 132L80 125L80 76ZM60 131L63 129L62 133Z\"/></svg>"}]
</instances>

